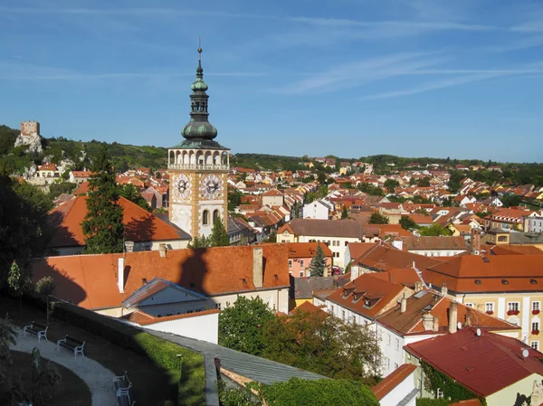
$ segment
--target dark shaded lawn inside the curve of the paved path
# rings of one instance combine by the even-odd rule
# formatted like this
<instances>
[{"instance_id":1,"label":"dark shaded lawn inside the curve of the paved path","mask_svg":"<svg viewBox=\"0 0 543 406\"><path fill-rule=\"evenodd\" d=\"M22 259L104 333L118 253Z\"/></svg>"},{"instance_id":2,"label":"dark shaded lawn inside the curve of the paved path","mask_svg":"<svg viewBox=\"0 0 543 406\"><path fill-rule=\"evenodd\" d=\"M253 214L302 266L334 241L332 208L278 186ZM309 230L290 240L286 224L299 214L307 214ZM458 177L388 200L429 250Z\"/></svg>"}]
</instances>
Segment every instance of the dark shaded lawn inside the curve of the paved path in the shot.
<instances>
[{"instance_id":1,"label":"dark shaded lawn inside the curve of the paved path","mask_svg":"<svg viewBox=\"0 0 543 406\"><path fill-rule=\"evenodd\" d=\"M7 367L7 373L12 377L20 374L24 387L28 388L32 379L32 355L20 351L11 351L10 354L13 364ZM54 362L51 364L61 374L62 382L56 389L52 400L47 403L48 406L90 406L92 401L87 384L61 364Z\"/></svg>"}]
</instances>

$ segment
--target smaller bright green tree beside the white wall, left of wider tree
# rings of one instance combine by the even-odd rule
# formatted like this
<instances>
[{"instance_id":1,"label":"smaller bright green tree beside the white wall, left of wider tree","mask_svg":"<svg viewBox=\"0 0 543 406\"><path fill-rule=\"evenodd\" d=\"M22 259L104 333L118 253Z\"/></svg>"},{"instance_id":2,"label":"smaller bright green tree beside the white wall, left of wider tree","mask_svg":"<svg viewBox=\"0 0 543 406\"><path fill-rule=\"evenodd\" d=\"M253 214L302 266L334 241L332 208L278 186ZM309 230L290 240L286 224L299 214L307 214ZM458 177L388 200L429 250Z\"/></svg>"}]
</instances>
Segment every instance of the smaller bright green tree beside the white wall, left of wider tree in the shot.
<instances>
[{"instance_id":1,"label":"smaller bright green tree beside the white wall, left of wider tree","mask_svg":"<svg viewBox=\"0 0 543 406\"><path fill-rule=\"evenodd\" d=\"M243 353L260 355L265 347L264 327L273 320L260 297L240 296L219 315L219 345Z\"/></svg>"}]
</instances>

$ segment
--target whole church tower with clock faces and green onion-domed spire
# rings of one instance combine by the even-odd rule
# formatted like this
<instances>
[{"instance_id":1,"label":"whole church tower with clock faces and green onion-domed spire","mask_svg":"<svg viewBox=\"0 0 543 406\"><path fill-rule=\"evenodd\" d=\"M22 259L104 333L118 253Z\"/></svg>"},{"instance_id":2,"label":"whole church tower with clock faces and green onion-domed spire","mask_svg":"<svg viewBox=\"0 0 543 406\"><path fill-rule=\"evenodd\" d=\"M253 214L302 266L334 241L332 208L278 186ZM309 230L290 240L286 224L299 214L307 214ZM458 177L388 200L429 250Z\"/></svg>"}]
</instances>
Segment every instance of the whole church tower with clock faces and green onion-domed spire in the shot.
<instances>
[{"instance_id":1,"label":"whole church tower with clock faces and green onion-domed spire","mask_svg":"<svg viewBox=\"0 0 543 406\"><path fill-rule=\"evenodd\" d=\"M207 85L198 48L196 80L191 85L190 121L181 131L185 140L167 151L169 220L193 238L211 234L217 217L228 222L229 149L214 141L217 129L207 117Z\"/></svg>"}]
</instances>

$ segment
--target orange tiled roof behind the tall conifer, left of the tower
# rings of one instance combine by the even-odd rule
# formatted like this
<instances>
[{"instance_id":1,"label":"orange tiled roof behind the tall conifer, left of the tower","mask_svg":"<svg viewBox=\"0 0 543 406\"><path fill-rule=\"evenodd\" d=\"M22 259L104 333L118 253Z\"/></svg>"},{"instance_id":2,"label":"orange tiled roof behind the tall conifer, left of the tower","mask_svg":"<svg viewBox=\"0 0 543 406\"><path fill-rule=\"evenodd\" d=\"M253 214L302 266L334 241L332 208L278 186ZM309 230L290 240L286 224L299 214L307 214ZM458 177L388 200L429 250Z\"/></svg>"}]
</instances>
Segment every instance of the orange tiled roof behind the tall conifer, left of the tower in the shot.
<instances>
[{"instance_id":1,"label":"orange tiled roof behind the tall conifer, left of the tower","mask_svg":"<svg viewBox=\"0 0 543 406\"><path fill-rule=\"evenodd\" d=\"M119 205L123 208L122 222L125 225L125 239L127 241L167 241L189 240L186 232L157 216L147 212L137 204L124 197L119 198ZM85 237L81 222L87 214L87 196L76 196L70 201L59 205L50 212L50 220L57 227L49 243L50 247L77 247L85 245Z\"/></svg>"}]
</instances>

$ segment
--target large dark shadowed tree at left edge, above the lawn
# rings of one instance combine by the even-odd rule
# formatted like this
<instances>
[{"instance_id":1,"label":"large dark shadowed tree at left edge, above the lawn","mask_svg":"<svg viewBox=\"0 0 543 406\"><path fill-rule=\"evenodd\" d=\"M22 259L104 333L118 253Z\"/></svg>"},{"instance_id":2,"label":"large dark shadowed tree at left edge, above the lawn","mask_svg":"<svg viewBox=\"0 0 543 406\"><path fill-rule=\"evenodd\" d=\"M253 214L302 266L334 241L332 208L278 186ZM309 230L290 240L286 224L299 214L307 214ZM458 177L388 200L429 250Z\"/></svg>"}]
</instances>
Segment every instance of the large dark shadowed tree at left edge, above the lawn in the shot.
<instances>
[{"instance_id":1,"label":"large dark shadowed tree at left edge, above the lawn","mask_svg":"<svg viewBox=\"0 0 543 406\"><path fill-rule=\"evenodd\" d=\"M43 256L52 234L51 208L52 201L34 186L0 174L0 287L14 260L26 275L28 261Z\"/></svg>"}]
</instances>

